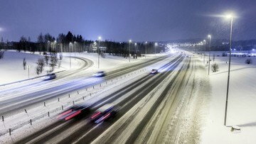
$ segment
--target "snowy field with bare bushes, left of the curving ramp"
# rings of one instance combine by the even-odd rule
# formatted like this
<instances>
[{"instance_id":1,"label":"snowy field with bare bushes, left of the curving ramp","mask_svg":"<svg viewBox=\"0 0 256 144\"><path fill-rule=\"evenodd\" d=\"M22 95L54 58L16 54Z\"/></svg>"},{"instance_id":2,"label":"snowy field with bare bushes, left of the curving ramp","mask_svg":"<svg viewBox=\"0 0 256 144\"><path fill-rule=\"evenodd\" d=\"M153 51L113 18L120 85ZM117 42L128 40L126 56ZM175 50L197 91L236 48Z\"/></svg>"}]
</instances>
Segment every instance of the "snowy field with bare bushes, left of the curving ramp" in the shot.
<instances>
[{"instance_id":1,"label":"snowy field with bare bushes, left of the curving ramp","mask_svg":"<svg viewBox=\"0 0 256 144\"><path fill-rule=\"evenodd\" d=\"M38 55L38 52L36 53L37 54L34 55L30 52L5 51L4 58L0 60L0 84L8 84L28 79L28 65L30 65L29 78L47 74L47 71L50 70L49 67L45 67L42 74L36 74L36 62L38 58L43 58L43 55ZM23 58L26 60L26 70L23 70ZM64 57L61 67L56 68L54 72L66 70L67 67L69 67L69 61Z\"/></svg>"}]
</instances>

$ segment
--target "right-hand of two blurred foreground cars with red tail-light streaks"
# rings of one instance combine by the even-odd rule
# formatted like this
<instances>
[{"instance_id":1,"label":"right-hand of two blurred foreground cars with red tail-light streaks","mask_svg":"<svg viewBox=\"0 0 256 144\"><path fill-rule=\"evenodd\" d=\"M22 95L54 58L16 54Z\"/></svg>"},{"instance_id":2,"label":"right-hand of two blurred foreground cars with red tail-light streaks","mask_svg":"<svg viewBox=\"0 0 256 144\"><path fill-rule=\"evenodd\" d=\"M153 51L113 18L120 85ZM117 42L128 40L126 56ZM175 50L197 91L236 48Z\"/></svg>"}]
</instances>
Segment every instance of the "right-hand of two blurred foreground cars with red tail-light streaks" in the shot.
<instances>
[{"instance_id":1,"label":"right-hand of two blurred foreground cars with red tail-light streaks","mask_svg":"<svg viewBox=\"0 0 256 144\"><path fill-rule=\"evenodd\" d=\"M119 106L114 106L113 104L105 104L92 114L92 116L90 117L91 121L94 123L101 123L102 121L107 121L108 119L115 116L118 109Z\"/></svg>"}]
</instances>

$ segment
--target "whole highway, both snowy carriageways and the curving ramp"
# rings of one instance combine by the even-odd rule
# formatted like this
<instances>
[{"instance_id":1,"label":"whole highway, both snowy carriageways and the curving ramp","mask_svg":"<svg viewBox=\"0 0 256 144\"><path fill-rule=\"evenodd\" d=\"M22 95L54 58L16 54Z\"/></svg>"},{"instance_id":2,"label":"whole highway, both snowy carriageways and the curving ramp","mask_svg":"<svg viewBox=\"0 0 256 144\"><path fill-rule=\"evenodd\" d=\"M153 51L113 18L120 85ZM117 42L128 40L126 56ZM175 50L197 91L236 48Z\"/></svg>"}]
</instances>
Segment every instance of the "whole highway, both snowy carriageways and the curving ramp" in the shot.
<instances>
[{"instance_id":1,"label":"whole highway, both snowy carriageways and the curving ramp","mask_svg":"<svg viewBox=\"0 0 256 144\"><path fill-rule=\"evenodd\" d=\"M15 143L171 143L177 142L181 134L183 117L192 100L193 74L197 64L193 57L183 53L166 55L137 65L120 67L107 72L103 79L85 75L93 62L77 57L83 65L77 70L58 74L48 82L30 82L22 87L4 89L1 94L0 112L11 116L20 109L56 99L70 92L91 87L93 84L125 77L140 70L141 74L116 87L106 87L106 96L93 101L90 113L69 121L55 121ZM144 72L146 67L158 67L158 74ZM81 78L82 77L82 78ZM111 85L111 84L110 84ZM192 85L192 86L191 86ZM27 89L27 90L24 90ZM14 94L12 94L13 92ZM120 107L116 116L109 121L92 123L92 113L105 104ZM166 134L167 133L167 134ZM169 135L169 136L166 136Z\"/></svg>"}]
</instances>

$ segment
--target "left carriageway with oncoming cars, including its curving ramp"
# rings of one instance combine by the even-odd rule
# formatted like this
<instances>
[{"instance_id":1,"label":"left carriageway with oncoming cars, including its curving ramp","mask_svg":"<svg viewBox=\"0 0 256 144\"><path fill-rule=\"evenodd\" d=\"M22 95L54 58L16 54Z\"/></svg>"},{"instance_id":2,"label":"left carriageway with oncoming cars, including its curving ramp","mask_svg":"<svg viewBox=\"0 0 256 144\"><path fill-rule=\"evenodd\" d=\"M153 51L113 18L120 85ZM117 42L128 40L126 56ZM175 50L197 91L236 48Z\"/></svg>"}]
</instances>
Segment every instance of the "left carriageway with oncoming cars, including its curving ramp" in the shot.
<instances>
[{"instance_id":1,"label":"left carriageway with oncoming cars, including its curving ramp","mask_svg":"<svg viewBox=\"0 0 256 144\"><path fill-rule=\"evenodd\" d=\"M142 62L135 66L120 67L118 70L108 72L105 80L107 81L107 79L112 79L146 67L166 57L168 55L155 60ZM93 65L93 62L83 57L77 57L77 59L82 61L81 67L75 70L61 72L56 79L51 81L36 79L36 82L33 81L28 84L18 84L16 87L1 89L0 115L9 116L18 113L18 109L26 109L41 104L43 101L75 92L78 89L90 87L92 84L100 83L101 81L99 79L92 79L91 75L84 74L85 70Z\"/></svg>"}]
</instances>

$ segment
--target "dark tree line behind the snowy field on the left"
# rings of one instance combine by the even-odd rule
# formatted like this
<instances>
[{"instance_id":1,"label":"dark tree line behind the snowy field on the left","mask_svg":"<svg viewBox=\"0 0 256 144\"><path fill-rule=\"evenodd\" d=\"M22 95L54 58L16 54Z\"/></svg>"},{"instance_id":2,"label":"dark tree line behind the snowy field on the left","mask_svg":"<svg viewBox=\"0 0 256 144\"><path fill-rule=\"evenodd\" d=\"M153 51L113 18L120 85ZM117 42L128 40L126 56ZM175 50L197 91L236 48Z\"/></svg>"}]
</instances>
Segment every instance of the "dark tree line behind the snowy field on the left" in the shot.
<instances>
[{"instance_id":1,"label":"dark tree line behind the snowy field on the left","mask_svg":"<svg viewBox=\"0 0 256 144\"><path fill-rule=\"evenodd\" d=\"M114 42L111 40L100 41L100 51L95 50L99 47L98 40L85 40L82 35L74 35L70 31L67 34L60 33L57 38L50 35L50 33L40 33L36 42L31 42L31 38L21 36L18 42L1 43L1 49L30 51L30 52L106 52L110 55L117 55L127 57L130 53L132 55L141 56L142 54L151 54L164 51L161 46L155 46L153 42L149 43L134 43L129 42ZM105 48L102 50L101 48Z\"/></svg>"}]
</instances>

